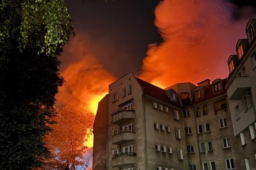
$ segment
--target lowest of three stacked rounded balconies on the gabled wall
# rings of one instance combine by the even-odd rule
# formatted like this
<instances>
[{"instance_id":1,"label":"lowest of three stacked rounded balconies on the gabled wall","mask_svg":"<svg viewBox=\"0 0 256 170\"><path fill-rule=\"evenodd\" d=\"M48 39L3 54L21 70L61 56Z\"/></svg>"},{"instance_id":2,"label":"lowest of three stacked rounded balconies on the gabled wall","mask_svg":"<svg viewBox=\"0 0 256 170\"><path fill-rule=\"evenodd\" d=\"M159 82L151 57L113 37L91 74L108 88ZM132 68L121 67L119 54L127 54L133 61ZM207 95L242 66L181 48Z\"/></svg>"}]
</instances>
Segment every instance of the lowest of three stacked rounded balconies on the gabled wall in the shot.
<instances>
[{"instance_id":1,"label":"lowest of three stacked rounded balconies on the gabled wall","mask_svg":"<svg viewBox=\"0 0 256 170\"><path fill-rule=\"evenodd\" d=\"M136 153L134 152L118 153L112 156L113 167L121 167L134 164L136 164Z\"/></svg>"}]
</instances>

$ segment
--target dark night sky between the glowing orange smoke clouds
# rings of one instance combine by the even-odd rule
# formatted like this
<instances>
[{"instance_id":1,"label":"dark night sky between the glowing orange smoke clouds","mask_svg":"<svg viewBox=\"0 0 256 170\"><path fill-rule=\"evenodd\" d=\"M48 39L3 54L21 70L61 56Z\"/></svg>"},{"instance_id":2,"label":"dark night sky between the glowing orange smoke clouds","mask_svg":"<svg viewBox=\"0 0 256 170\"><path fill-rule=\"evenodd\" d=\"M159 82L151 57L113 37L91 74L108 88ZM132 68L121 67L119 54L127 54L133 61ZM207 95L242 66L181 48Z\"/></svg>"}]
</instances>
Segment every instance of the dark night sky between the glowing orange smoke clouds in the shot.
<instances>
[{"instance_id":1,"label":"dark night sky between the glowing orange smoke clouds","mask_svg":"<svg viewBox=\"0 0 256 170\"><path fill-rule=\"evenodd\" d=\"M154 25L154 9L158 3L159 0L109 3L104 0L66 0L74 22L75 39L83 41L86 49L83 54L96 56L117 78L129 71L139 73L148 44L162 41ZM241 7L256 4L255 0L233 0L232 3L238 7L233 12L236 20L239 20ZM60 70L77 60L79 58L72 56L66 48Z\"/></svg>"}]
</instances>

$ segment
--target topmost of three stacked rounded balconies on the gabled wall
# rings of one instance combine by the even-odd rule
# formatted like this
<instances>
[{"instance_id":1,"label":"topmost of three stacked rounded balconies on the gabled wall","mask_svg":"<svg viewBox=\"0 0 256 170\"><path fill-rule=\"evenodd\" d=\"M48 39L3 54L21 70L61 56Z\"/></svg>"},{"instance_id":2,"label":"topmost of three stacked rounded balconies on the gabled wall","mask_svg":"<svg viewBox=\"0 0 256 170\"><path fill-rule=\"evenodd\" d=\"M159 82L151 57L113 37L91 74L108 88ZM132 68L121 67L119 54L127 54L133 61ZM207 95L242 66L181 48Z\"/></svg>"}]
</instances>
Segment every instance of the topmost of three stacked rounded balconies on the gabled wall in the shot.
<instances>
[{"instance_id":1,"label":"topmost of three stacked rounded balconies on the gabled wall","mask_svg":"<svg viewBox=\"0 0 256 170\"><path fill-rule=\"evenodd\" d=\"M135 110L133 108L124 108L114 112L111 116L112 123L122 124L129 120L135 119Z\"/></svg>"}]
</instances>

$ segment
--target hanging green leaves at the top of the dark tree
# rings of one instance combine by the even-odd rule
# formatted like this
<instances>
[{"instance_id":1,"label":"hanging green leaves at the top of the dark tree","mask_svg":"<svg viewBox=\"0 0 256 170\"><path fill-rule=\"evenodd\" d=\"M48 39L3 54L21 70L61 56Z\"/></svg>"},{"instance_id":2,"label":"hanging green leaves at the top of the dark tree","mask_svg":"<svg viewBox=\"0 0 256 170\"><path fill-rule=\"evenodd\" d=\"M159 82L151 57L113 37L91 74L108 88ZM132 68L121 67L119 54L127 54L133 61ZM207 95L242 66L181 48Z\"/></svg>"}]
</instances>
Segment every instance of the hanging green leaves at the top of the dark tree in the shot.
<instances>
[{"instance_id":1,"label":"hanging green leaves at the top of the dark tree","mask_svg":"<svg viewBox=\"0 0 256 170\"><path fill-rule=\"evenodd\" d=\"M20 23L10 27L17 17ZM38 54L56 56L74 35L64 0L0 0L0 46L14 35L20 52L34 43ZM41 38L32 41L34 35Z\"/></svg>"}]
</instances>

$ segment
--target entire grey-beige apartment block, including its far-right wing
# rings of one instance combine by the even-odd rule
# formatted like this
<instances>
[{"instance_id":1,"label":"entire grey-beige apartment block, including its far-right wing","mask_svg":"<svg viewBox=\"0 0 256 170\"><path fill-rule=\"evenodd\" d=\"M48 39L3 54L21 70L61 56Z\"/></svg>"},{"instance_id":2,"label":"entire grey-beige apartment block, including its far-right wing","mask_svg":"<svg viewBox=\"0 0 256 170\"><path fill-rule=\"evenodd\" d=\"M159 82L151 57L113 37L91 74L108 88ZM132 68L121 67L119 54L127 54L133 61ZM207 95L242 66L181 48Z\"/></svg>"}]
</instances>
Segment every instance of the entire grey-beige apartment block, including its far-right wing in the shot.
<instances>
[{"instance_id":1,"label":"entire grey-beige apartment block, including its far-right wing","mask_svg":"<svg viewBox=\"0 0 256 170\"><path fill-rule=\"evenodd\" d=\"M226 79L161 89L128 73L110 84L94 122L93 170L255 170L253 24Z\"/></svg>"}]
</instances>

